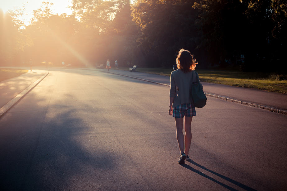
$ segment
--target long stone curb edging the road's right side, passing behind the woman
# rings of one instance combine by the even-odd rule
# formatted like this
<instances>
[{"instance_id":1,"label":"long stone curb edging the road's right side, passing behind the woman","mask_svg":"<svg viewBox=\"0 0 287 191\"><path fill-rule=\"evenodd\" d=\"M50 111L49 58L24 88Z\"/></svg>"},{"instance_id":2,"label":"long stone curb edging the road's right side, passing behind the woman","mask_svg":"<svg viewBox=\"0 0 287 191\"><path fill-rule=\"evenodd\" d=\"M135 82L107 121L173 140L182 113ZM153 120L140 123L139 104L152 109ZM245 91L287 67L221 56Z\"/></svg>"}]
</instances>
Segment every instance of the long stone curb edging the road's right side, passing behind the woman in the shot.
<instances>
[{"instance_id":1,"label":"long stone curb edging the road's right side, passing behind the woman","mask_svg":"<svg viewBox=\"0 0 287 191\"><path fill-rule=\"evenodd\" d=\"M124 75L124 74L118 74L118 73L107 72L107 71L101 71L101 72L117 74L117 75L120 75L120 76L130 77L130 78L134 78L134 79L138 79L138 80L151 82L151 83L156 83L156 84L159 84L159 85L170 87L169 84L154 82L154 81L151 81L151 80L146 80L146 79L142 79L142 78L136 78L136 77L132 77L132 76ZM271 107L271 106L268 106L268 105L261 105L261 104L256 104L256 103L252 103L252 102L236 100L234 98L225 97L225 96L222 96L222 95L216 95L216 94L207 93L207 92L205 92L205 95L209 96L209 97L214 97L214 98L217 98L217 99L221 99L221 100L230 101L230 102L237 103L237 104L243 104L243 105L247 105L247 106L250 106L250 107L255 107L255 108L259 108L259 109L265 109L265 110L269 110L271 112L281 113L281 114L287 115L287 111L282 110L282 109L277 109L277 108L274 108L274 107Z\"/></svg>"}]
</instances>

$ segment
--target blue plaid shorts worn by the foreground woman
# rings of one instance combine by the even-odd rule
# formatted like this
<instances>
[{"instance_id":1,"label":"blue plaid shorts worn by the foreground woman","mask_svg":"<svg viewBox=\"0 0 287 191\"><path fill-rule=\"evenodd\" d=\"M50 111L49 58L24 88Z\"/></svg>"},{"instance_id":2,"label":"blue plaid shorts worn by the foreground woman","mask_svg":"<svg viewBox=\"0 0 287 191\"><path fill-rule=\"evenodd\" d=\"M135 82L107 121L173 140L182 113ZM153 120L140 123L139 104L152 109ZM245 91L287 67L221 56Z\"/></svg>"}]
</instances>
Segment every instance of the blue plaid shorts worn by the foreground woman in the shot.
<instances>
[{"instance_id":1,"label":"blue plaid shorts worn by the foreground woman","mask_svg":"<svg viewBox=\"0 0 287 191\"><path fill-rule=\"evenodd\" d=\"M194 104L180 104L173 108L172 117L183 118L196 116Z\"/></svg>"}]
</instances>

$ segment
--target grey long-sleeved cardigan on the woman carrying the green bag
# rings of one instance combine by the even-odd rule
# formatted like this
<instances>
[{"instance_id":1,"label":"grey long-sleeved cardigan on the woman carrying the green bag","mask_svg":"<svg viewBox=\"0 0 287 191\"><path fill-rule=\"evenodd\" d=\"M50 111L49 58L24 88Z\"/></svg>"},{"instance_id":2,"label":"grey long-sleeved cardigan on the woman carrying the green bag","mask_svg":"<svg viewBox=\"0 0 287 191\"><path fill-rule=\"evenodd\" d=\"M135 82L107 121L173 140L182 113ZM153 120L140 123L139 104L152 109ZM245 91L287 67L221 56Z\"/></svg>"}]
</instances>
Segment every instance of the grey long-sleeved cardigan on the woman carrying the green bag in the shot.
<instances>
[{"instance_id":1,"label":"grey long-sleeved cardigan on the woman carrying the green bag","mask_svg":"<svg viewBox=\"0 0 287 191\"><path fill-rule=\"evenodd\" d=\"M193 74L193 79L191 79ZM180 104L189 104L193 100L191 98L191 84L197 81L197 72L190 71L184 73L181 69L177 69L171 73L171 88L169 91L169 96L174 97L172 107L176 107ZM202 84L199 82L200 86ZM202 87L203 88L203 87Z\"/></svg>"}]
</instances>

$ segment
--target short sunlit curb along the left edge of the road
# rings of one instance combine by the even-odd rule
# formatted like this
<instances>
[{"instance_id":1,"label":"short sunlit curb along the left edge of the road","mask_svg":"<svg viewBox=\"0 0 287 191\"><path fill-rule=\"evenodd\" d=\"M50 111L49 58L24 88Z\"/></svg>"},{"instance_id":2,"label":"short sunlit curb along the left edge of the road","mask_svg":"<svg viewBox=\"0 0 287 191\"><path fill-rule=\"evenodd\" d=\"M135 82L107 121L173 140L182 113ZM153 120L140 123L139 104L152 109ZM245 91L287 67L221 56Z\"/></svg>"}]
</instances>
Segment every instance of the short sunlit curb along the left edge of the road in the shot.
<instances>
[{"instance_id":1,"label":"short sunlit curb along the left edge of the road","mask_svg":"<svg viewBox=\"0 0 287 191\"><path fill-rule=\"evenodd\" d=\"M41 76L38 80L28 86L25 90L23 90L20 94L16 95L12 100L10 100L7 104L5 104L2 108L0 108L0 118L7 113L9 109L13 107L22 97L28 94L35 86L37 86L47 75L49 71L47 71L43 76Z\"/></svg>"}]
</instances>

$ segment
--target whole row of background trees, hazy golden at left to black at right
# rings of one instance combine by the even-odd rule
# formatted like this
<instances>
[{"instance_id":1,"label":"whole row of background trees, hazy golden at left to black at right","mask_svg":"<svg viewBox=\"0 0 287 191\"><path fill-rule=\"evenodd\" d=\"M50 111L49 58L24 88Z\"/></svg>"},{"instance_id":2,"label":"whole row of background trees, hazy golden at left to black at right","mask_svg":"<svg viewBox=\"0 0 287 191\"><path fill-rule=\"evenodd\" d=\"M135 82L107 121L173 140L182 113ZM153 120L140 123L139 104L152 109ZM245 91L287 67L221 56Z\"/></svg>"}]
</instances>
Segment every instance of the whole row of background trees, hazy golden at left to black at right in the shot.
<instances>
[{"instance_id":1,"label":"whole row of background trees, hazy golden at left to black at right","mask_svg":"<svg viewBox=\"0 0 287 191\"><path fill-rule=\"evenodd\" d=\"M0 10L0 65L166 67L191 51L198 68L285 72L284 0L73 0L72 15L43 2L31 24Z\"/></svg>"}]
</instances>

